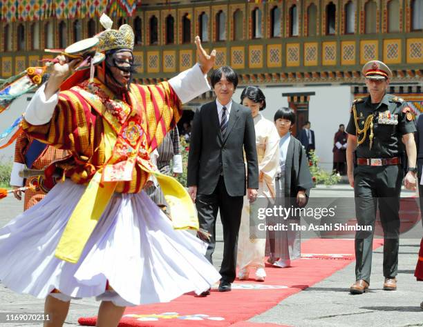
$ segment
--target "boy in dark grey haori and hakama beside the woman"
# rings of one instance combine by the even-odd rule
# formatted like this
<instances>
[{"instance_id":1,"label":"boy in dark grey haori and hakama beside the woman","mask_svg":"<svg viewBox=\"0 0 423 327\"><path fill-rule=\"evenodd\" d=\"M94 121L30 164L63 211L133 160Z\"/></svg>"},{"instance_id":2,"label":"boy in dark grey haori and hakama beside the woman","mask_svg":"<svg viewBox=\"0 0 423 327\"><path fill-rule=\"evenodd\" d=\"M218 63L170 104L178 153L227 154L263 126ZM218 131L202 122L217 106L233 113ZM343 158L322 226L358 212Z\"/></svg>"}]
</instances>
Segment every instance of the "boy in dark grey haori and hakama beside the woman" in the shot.
<instances>
[{"instance_id":1,"label":"boy in dark grey haori and hakama beside the woman","mask_svg":"<svg viewBox=\"0 0 423 327\"><path fill-rule=\"evenodd\" d=\"M294 110L281 108L274 115L274 124L279 132L279 171L276 175L276 206L303 207L313 187L306 151L301 142L292 137L290 130L295 123ZM299 219L273 217L273 224L291 226ZM299 232L287 228L285 231L269 231L267 262L279 268L289 267L292 259L301 255Z\"/></svg>"}]
</instances>

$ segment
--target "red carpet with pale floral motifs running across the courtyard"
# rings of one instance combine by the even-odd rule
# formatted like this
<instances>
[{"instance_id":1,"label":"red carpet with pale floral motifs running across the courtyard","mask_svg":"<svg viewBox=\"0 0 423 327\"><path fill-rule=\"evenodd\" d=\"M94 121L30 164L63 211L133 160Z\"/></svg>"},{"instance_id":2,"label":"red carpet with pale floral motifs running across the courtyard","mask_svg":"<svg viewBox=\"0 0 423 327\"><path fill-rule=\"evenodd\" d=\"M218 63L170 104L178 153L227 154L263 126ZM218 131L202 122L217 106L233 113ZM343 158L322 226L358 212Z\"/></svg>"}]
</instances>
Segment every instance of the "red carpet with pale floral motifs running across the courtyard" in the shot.
<instances>
[{"instance_id":1,"label":"red carpet with pale floral motifs running across the courtyard","mask_svg":"<svg viewBox=\"0 0 423 327\"><path fill-rule=\"evenodd\" d=\"M373 248L382 244L383 240L377 239ZM207 297L186 294L170 303L127 308L119 326L272 326L246 320L350 264L354 259L354 240L310 239L301 244L301 252L301 259L292 261L290 268L268 266L263 283L236 280L231 292L212 289ZM350 282L353 280L339 287L348 292ZM95 320L96 317L82 317L78 322L95 326Z\"/></svg>"}]
</instances>

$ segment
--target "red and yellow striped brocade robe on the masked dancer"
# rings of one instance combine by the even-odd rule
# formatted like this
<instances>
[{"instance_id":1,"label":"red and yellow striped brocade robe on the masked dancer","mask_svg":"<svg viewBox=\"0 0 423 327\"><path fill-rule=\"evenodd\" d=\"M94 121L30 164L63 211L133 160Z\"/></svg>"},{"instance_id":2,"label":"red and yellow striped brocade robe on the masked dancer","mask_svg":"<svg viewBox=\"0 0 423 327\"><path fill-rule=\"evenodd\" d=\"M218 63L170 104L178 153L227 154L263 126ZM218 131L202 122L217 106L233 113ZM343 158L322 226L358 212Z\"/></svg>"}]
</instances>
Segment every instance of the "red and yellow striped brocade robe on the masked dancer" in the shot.
<instances>
[{"instance_id":1,"label":"red and yellow striped brocade robe on the masked dancer","mask_svg":"<svg viewBox=\"0 0 423 327\"><path fill-rule=\"evenodd\" d=\"M90 96L93 94L97 97ZM129 99L119 101L113 92L95 79L91 86L84 81L60 92L59 102L48 123L34 126L23 120L23 129L40 141L69 150L71 155L55 166L76 184L88 184L112 155L106 147L106 139L116 141L116 130L134 110L138 113L143 131L140 155L148 160L148 154L176 126L182 114L181 108L176 92L166 81L156 86L131 84ZM149 173L136 162L132 179L118 181L115 192L140 192L148 177Z\"/></svg>"}]
</instances>

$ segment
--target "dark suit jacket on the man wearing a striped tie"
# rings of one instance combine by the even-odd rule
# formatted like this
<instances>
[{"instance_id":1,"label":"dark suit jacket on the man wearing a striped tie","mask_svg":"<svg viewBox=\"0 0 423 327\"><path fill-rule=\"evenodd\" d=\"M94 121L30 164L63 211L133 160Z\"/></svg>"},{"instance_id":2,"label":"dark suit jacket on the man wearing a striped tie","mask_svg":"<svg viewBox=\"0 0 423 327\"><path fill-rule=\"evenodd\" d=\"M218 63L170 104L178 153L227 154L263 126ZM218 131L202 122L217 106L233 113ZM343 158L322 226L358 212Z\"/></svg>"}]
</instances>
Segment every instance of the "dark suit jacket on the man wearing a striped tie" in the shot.
<instances>
[{"instance_id":1,"label":"dark suit jacket on the man wearing a striped tie","mask_svg":"<svg viewBox=\"0 0 423 327\"><path fill-rule=\"evenodd\" d=\"M247 159L245 182L244 151ZM229 123L222 137L216 101L197 110L191 127L187 185L198 194L214 192L223 171L226 190L232 197L243 196L248 188L259 188L256 132L251 110L232 101Z\"/></svg>"}]
</instances>

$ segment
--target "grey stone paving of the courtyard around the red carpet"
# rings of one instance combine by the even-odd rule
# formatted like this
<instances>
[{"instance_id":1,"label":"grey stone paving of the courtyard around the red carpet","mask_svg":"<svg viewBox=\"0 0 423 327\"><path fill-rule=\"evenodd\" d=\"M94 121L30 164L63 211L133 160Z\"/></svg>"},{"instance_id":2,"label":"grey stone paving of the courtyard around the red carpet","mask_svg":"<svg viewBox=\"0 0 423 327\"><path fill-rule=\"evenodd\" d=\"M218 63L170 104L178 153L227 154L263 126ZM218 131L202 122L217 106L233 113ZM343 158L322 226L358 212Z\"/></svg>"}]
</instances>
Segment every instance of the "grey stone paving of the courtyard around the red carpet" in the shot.
<instances>
[{"instance_id":1,"label":"grey stone paving of the courtyard around the red carpet","mask_svg":"<svg viewBox=\"0 0 423 327\"><path fill-rule=\"evenodd\" d=\"M403 192L403 196L412 196ZM353 197L353 190L345 184L319 186L312 197ZM0 202L0 226L21 212L22 202L13 197ZM415 228L420 229L419 224ZM216 228L217 244L214 264L220 268L223 254L222 228ZM281 301L274 308L250 319L251 322L285 324L291 326L423 326L423 283L413 277L420 239L401 239L398 290L382 290L382 248L373 252L371 291L364 295L349 295L353 283L354 261L323 281ZM310 272L312 273L312 272ZM99 304L94 299L73 301L65 326L79 326L77 318L97 313ZM43 299L17 295L0 284L1 313L42 313ZM39 326L39 324L4 324L0 326ZM239 325L241 326L241 325Z\"/></svg>"}]
</instances>

